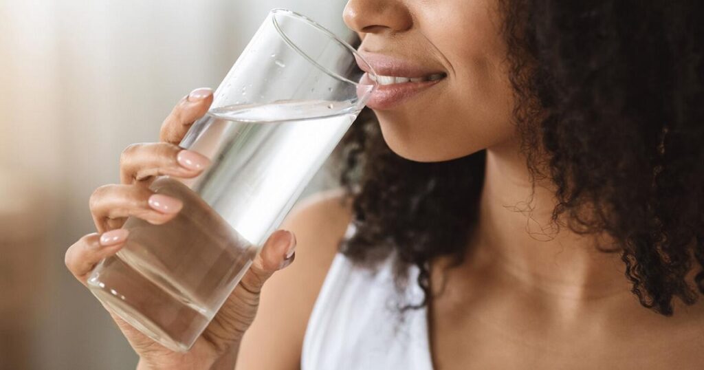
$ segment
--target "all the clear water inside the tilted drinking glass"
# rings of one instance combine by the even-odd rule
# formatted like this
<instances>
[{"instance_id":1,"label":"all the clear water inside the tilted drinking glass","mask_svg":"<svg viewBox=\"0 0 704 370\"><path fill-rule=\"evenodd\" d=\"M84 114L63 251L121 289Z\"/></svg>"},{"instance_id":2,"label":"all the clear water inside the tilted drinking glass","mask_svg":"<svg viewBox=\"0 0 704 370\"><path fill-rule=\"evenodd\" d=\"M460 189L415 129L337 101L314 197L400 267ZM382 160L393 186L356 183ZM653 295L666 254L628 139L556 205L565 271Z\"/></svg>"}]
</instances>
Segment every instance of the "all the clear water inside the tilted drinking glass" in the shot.
<instances>
[{"instance_id":1,"label":"all the clear water inside the tilted drinking glass","mask_svg":"<svg viewBox=\"0 0 704 370\"><path fill-rule=\"evenodd\" d=\"M151 185L184 208L160 226L130 218L127 245L89 278L92 292L140 331L188 350L357 114L331 101L210 111L182 142L210 158L208 171Z\"/></svg>"}]
</instances>

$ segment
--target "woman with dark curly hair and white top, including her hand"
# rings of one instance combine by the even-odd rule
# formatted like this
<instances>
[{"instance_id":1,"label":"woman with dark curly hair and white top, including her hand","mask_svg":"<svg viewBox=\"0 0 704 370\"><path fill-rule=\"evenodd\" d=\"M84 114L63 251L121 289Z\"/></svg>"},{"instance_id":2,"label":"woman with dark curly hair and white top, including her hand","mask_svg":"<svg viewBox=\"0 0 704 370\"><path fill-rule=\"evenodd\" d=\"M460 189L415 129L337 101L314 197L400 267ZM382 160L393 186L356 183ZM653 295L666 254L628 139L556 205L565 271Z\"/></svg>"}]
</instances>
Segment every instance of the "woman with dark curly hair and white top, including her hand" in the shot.
<instances>
[{"instance_id":1,"label":"woman with dark curly hair and white top, including her hand","mask_svg":"<svg viewBox=\"0 0 704 370\"><path fill-rule=\"evenodd\" d=\"M138 368L700 368L704 6L579 3L349 1L386 77L346 186L289 214L191 352L113 315ZM211 99L125 151L67 252L79 280L125 217L180 209L146 185L207 166L175 143Z\"/></svg>"}]
</instances>

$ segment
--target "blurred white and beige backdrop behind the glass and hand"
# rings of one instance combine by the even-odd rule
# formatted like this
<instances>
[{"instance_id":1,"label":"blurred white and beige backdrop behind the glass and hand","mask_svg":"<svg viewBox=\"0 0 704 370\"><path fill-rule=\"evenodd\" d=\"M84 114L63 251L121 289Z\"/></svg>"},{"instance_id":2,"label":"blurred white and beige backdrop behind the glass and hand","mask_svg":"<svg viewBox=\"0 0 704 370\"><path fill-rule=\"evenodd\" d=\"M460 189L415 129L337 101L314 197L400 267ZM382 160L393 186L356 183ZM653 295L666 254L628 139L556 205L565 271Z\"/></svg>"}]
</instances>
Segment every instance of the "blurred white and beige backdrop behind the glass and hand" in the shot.
<instances>
[{"instance_id":1,"label":"blurred white and beige backdrop behind the glass and hand","mask_svg":"<svg viewBox=\"0 0 704 370\"><path fill-rule=\"evenodd\" d=\"M65 269L94 231L88 198L132 142L218 87L271 8L339 35L344 0L0 0L0 369L134 369L137 357ZM328 163L304 192L335 186Z\"/></svg>"}]
</instances>

